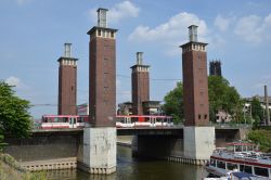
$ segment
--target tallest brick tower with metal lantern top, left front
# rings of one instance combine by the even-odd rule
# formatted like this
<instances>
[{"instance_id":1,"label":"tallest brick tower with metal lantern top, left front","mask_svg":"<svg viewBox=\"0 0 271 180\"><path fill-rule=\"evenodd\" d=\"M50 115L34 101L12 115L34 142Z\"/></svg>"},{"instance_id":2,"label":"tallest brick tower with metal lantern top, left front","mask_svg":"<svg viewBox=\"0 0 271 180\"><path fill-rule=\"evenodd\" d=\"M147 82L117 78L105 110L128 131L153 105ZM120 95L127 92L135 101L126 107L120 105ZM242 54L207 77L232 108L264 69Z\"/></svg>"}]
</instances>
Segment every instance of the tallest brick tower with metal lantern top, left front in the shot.
<instances>
[{"instance_id":1,"label":"tallest brick tower with metal lantern top, left front","mask_svg":"<svg viewBox=\"0 0 271 180\"><path fill-rule=\"evenodd\" d=\"M115 127L116 29L107 28L106 9L98 10L98 26L88 31L89 113L95 127Z\"/></svg>"}]
</instances>

